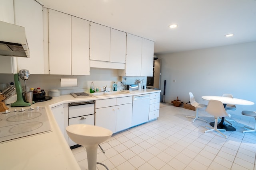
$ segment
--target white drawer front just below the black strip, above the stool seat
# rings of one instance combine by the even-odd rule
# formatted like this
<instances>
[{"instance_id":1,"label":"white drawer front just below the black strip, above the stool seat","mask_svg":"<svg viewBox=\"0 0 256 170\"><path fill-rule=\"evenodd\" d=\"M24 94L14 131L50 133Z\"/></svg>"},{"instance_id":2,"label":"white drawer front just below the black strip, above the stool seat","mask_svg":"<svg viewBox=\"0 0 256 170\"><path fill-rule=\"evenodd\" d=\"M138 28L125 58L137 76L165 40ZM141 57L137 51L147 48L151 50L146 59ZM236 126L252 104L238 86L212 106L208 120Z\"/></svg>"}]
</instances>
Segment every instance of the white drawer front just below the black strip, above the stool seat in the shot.
<instances>
[{"instance_id":1,"label":"white drawer front just below the black strip, above the stool seat","mask_svg":"<svg viewBox=\"0 0 256 170\"><path fill-rule=\"evenodd\" d=\"M68 107L68 118L94 114L94 104Z\"/></svg>"}]
</instances>

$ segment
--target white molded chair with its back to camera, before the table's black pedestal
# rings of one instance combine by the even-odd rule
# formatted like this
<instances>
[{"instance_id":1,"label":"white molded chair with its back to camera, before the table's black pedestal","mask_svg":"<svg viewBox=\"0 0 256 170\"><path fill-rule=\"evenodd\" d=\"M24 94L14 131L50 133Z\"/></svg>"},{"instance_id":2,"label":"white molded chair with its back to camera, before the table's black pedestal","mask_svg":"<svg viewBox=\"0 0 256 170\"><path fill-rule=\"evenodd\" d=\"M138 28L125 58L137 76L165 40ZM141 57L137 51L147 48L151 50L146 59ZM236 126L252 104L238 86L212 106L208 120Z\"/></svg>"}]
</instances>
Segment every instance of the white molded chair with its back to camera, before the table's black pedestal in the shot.
<instances>
[{"instance_id":1,"label":"white molded chair with its back to camera, before the table's black pedestal","mask_svg":"<svg viewBox=\"0 0 256 170\"><path fill-rule=\"evenodd\" d=\"M210 113L211 115L214 116L214 128L204 131L204 133L209 132L209 131L216 131L216 132L220 133L221 135L223 135L225 138L227 138L223 133L220 132L220 131L226 131L225 129L217 129L218 118L228 116L228 113L226 112L222 102L220 102L218 100L210 100L205 111L207 111L208 113ZM212 128L212 127L210 127L210 128Z\"/></svg>"}]
</instances>

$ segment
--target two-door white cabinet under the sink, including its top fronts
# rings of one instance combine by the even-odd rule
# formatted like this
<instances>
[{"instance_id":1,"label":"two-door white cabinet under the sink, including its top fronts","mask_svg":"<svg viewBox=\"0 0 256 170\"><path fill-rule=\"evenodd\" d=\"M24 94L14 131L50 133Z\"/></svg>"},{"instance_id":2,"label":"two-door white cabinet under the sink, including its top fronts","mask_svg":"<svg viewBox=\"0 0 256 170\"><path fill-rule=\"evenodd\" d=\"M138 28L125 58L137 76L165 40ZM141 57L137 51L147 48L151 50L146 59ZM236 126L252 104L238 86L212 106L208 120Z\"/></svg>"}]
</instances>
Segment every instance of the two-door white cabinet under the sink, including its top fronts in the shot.
<instances>
[{"instance_id":1,"label":"two-door white cabinet under the sink, including its top fronts","mask_svg":"<svg viewBox=\"0 0 256 170\"><path fill-rule=\"evenodd\" d=\"M132 125L132 96L96 100L95 125L111 130L122 131Z\"/></svg>"}]
</instances>

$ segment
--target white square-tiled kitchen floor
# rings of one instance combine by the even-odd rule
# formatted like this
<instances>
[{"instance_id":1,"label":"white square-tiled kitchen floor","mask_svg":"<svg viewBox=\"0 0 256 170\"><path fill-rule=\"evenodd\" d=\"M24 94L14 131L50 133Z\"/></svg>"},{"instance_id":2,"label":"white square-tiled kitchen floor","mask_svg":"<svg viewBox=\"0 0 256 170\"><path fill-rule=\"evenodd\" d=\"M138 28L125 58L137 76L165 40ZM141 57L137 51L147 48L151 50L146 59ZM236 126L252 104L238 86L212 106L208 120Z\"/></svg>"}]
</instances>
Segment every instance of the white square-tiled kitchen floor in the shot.
<instances>
[{"instance_id":1,"label":"white square-tiled kitchen floor","mask_svg":"<svg viewBox=\"0 0 256 170\"><path fill-rule=\"evenodd\" d=\"M232 111L229 111L232 114ZM234 116L234 132L204 133L214 117L205 111L199 115L208 123L192 119L194 111L160 104L157 120L114 134L101 144L97 162L109 170L256 170L256 133L242 133L244 126L254 127L254 118ZM86 150L72 150L82 170L88 169ZM98 170L106 170L97 164Z\"/></svg>"}]
</instances>

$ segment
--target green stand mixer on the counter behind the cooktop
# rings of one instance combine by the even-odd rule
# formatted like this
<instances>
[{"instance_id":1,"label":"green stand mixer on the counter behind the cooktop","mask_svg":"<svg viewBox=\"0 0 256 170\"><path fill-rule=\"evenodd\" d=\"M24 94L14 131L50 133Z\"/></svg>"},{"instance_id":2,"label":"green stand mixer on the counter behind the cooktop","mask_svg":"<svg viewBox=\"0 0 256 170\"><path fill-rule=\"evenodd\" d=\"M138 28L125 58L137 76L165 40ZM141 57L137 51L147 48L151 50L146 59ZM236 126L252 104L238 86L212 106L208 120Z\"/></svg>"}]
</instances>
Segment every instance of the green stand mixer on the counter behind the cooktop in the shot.
<instances>
[{"instance_id":1,"label":"green stand mixer on the counter behind the cooktop","mask_svg":"<svg viewBox=\"0 0 256 170\"><path fill-rule=\"evenodd\" d=\"M22 95L22 86L20 84L19 77L24 80L25 82L25 89L26 89L26 80L28 80L30 74L28 70L20 70L19 73L14 74L14 83L16 87L16 93L17 93L17 101L11 104L11 107L21 107L21 106L31 106L30 103L25 102L25 98ZM25 90L26 91L26 90Z\"/></svg>"}]
</instances>

